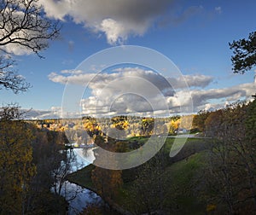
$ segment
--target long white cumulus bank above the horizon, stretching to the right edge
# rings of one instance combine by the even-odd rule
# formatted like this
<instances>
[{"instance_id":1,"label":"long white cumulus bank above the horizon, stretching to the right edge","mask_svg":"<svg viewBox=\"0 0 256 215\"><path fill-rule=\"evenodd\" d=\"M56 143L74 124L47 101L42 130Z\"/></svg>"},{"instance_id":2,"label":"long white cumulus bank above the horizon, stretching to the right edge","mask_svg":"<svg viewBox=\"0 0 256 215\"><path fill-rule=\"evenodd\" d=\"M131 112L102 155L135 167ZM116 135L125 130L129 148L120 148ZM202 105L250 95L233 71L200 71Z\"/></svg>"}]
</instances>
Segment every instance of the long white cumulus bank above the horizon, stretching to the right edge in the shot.
<instances>
[{"instance_id":1,"label":"long white cumulus bank above the horizon, stretching to the right edge","mask_svg":"<svg viewBox=\"0 0 256 215\"><path fill-rule=\"evenodd\" d=\"M183 113L191 105L194 106L193 113L196 113L201 109L224 108L226 104L239 99L249 99L256 90L255 83L210 89L213 81L211 76L195 74L163 77L143 67L119 67L108 73L64 70L50 73L49 79L83 89L87 86L90 95L84 96L79 106L82 114L92 116L165 116Z\"/></svg>"}]
</instances>

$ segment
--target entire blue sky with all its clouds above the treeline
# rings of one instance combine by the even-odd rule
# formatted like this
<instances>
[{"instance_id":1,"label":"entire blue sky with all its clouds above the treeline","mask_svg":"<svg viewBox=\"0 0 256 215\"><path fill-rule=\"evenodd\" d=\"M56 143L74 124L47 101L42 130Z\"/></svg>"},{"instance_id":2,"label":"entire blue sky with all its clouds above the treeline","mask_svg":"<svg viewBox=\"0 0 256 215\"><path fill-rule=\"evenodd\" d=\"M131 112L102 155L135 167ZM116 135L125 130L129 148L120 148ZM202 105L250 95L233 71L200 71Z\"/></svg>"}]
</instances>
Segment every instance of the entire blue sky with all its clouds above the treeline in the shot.
<instances>
[{"instance_id":1,"label":"entire blue sky with all its clouds above the treeline","mask_svg":"<svg viewBox=\"0 0 256 215\"><path fill-rule=\"evenodd\" d=\"M72 102L76 103L73 113L67 113L76 116L196 113L248 100L255 93L255 68L234 74L229 48L233 40L256 31L253 0L39 3L45 15L61 21L61 36L41 53L44 59L19 47L9 48L17 61L15 68L32 88L18 95L0 91L3 105L17 102L23 109L32 109L28 118L59 118ZM118 59L119 53L111 51L127 45L135 48L137 63L106 67L99 60L86 66L88 58L99 59L102 50L104 59ZM148 57L149 65L165 57L172 65L155 71L154 66L140 64L143 47L151 50L152 55L147 55L161 55L159 61L157 56Z\"/></svg>"}]
</instances>

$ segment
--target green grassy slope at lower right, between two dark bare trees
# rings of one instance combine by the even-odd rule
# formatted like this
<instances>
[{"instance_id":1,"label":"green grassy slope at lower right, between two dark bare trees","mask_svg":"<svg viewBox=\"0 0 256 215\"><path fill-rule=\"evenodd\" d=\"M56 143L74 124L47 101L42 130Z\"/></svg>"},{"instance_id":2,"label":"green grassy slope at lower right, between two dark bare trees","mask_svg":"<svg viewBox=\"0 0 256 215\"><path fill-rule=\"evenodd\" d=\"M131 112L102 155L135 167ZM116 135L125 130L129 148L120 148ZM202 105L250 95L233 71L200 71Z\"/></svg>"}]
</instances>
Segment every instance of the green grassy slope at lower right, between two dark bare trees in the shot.
<instances>
[{"instance_id":1,"label":"green grassy slope at lower right, between two dark bare trees","mask_svg":"<svg viewBox=\"0 0 256 215\"><path fill-rule=\"evenodd\" d=\"M202 186L200 179L205 156L205 152L193 154L188 160L180 160L166 169L165 177L171 177L166 206L178 208L175 214L205 214L205 206L196 190Z\"/></svg>"}]
</instances>

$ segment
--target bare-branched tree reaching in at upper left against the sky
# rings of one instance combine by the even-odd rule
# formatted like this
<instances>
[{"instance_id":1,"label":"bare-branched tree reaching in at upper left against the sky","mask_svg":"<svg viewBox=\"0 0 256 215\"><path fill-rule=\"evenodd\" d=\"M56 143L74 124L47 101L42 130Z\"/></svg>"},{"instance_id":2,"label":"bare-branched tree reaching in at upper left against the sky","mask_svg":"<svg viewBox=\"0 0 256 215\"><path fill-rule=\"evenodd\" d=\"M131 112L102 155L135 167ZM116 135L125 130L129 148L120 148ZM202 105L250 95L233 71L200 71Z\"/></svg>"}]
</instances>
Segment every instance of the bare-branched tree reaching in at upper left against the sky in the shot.
<instances>
[{"instance_id":1,"label":"bare-branched tree reaching in at upper left against the sky","mask_svg":"<svg viewBox=\"0 0 256 215\"><path fill-rule=\"evenodd\" d=\"M0 0L0 89L27 90L30 84L13 70L14 49L42 57L39 52L59 32L59 22L44 15L38 0Z\"/></svg>"}]
</instances>

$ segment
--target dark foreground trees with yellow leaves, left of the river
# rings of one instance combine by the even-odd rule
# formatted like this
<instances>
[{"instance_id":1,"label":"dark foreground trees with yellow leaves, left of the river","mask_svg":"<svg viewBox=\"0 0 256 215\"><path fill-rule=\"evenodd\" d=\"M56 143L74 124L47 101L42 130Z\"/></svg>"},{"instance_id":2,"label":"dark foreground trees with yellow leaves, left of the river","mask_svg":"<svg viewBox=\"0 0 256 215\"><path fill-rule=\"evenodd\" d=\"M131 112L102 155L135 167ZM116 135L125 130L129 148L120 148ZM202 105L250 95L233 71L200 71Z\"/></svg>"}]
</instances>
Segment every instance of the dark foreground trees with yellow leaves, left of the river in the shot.
<instances>
[{"instance_id":1,"label":"dark foreground trees with yellow leaves, left of the river","mask_svg":"<svg viewBox=\"0 0 256 215\"><path fill-rule=\"evenodd\" d=\"M67 201L50 192L70 162L60 153L66 139L61 132L39 130L22 115L16 105L0 108L0 214L66 214Z\"/></svg>"}]
</instances>

